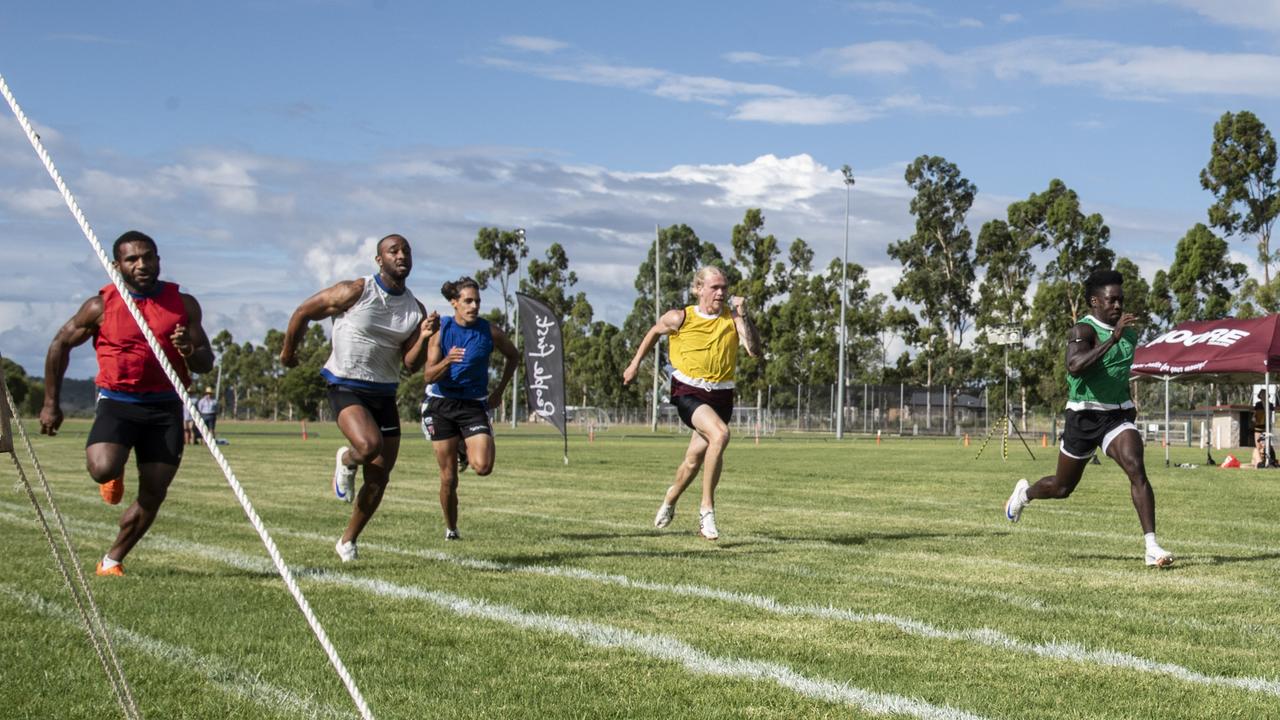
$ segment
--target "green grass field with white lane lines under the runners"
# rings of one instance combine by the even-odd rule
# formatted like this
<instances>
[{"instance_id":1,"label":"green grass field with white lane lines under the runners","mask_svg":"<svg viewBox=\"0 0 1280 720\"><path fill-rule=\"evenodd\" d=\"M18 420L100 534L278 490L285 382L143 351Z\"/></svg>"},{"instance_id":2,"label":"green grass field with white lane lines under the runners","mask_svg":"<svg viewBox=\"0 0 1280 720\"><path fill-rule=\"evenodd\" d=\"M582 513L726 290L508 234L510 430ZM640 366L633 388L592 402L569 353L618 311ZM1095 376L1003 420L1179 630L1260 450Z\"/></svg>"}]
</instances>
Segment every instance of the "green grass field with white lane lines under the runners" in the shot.
<instances>
[{"instance_id":1,"label":"green grass field with white lane lines under the runners","mask_svg":"<svg viewBox=\"0 0 1280 720\"><path fill-rule=\"evenodd\" d=\"M1110 462L1002 519L1014 480L1052 466L1038 445L1006 462L954 441L736 438L710 543L696 493L652 525L685 438L573 437L566 466L558 437L499 430L445 544L408 425L343 565L339 436L294 429L228 424L224 452L380 719L1280 717L1280 473L1166 469L1149 447L1179 557L1161 571ZM83 474L86 432L37 452L92 568L119 509ZM0 520L0 716L119 716L24 495ZM356 715L202 447L125 568L91 582L143 716Z\"/></svg>"}]
</instances>

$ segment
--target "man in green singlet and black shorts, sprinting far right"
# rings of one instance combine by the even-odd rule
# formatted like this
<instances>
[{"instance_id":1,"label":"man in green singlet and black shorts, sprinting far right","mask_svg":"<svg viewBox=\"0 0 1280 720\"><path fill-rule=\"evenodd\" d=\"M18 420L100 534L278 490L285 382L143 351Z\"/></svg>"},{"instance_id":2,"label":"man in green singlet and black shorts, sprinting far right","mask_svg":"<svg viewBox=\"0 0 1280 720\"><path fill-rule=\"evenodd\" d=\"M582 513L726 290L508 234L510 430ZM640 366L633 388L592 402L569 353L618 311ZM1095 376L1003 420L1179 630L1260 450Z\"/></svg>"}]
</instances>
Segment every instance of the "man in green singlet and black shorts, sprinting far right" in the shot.
<instances>
[{"instance_id":1,"label":"man in green singlet and black shorts, sprinting far right","mask_svg":"<svg viewBox=\"0 0 1280 720\"><path fill-rule=\"evenodd\" d=\"M1030 501L1070 496L1101 447L1129 475L1129 493L1147 543L1147 565L1167 568L1174 556L1156 542L1156 495L1147 482L1142 434L1134 425L1137 410L1129 396L1138 333L1133 329L1137 318L1124 311L1123 281L1115 270L1098 270L1084 281L1089 314L1071 327L1066 338L1066 427L1057 471L1036 484L1025 478L1018 480L1005 502L1005 518L1016 523Z\"/></svg>"}]
</instances>

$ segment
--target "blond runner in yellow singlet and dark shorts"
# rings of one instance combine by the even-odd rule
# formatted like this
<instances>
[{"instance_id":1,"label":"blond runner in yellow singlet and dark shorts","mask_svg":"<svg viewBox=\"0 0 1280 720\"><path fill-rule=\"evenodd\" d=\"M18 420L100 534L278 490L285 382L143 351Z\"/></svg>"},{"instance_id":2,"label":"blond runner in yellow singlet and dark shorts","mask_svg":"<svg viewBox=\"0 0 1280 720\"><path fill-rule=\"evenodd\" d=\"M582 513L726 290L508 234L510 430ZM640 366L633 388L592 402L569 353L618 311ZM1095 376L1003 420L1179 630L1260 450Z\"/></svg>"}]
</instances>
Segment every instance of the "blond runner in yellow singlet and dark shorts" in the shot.
<instances>
[{"instance_id":1,"label":"blond runner in yellow singlet and dark shorts","mask_svg":"<svg viewBox=\"0 0 1280 720\"><path fill-rule=\"evenodd\" d=\"M732 297L728 306L728 281L724 273L707 265L694 275L698 305L671 310L644 336L635 357L622 373L630 383L640 372L640 361L653 350L660 336L671 336L671 401L680 419L692 430L685 460L676 468L676 483L658 509L654 525L666 528L676 516L676 501L703 470L703 501L698 532L707 539L718 539L716 528L716 486L719 483L724 447L728 446L728 421L733 415L733 369L741 345L751 357L759 355L760 336L746 316L741 297Z\"/></svg>"}]
</instances>

